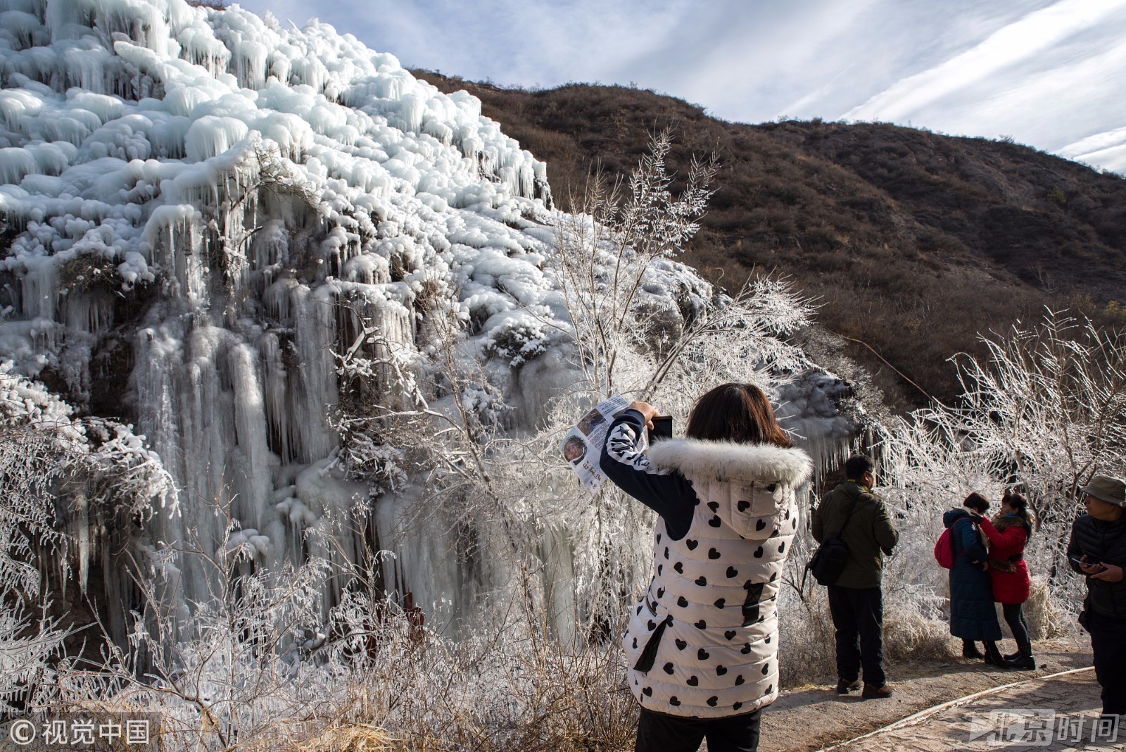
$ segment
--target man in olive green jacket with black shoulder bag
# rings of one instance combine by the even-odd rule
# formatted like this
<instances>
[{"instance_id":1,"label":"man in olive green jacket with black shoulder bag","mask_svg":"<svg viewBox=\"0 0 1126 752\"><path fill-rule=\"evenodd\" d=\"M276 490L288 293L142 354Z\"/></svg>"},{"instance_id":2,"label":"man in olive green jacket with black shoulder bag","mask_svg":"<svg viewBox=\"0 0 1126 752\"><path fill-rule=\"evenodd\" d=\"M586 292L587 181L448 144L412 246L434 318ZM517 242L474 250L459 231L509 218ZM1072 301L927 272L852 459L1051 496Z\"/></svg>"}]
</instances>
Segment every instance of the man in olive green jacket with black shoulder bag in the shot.
<instances>
[{"instance_id":1,"label":"man in olive green jacket with black shoulder bag","mask_svg":"<svg viewBox=\"0 0 1126 752\"><path fill-rule=\"evenodd\" d=\"M825 494L813 511L813 537L841 538L848 559L837 582L829 585L829 610L837 628L837 693L859 689L864 666L865 698L891 697L884 674L884 555L891 555L899 532L887 518L883 500L872 492L876 467L864 456L844 463L848 478Z\"/></svg>"}]
</instances>

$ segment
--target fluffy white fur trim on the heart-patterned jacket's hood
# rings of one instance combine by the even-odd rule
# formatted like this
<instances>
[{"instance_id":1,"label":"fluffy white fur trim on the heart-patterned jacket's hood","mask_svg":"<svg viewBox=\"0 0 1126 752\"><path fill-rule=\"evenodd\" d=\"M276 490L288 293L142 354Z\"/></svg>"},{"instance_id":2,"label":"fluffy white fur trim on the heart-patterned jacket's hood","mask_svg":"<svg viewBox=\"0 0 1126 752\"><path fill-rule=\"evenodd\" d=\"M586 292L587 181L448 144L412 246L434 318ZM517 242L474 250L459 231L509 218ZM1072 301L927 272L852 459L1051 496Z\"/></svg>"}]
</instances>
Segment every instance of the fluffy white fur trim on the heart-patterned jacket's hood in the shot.
<instances>
[{"instance_id":1,"label":"fluffy white fur trim on the heart-patterned jacket's hood","mask_svg":"<svg viewBox=\"0 0 1126 752\"><path fill-rule=\"evenodd\" d=\"M813 472L807 454L772 444L667 439L654 444L645 456L660 469L724 482L763 480L801 485Z\"/></svg>"}]
</instances>

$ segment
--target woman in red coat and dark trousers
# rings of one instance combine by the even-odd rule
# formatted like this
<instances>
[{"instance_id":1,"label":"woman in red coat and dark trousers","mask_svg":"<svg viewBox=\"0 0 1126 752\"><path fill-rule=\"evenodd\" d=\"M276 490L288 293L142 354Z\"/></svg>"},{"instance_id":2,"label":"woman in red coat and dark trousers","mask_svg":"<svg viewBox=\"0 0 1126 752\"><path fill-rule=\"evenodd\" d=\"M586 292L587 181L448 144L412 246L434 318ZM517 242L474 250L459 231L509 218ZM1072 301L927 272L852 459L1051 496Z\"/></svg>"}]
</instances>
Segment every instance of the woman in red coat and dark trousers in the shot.
<instances>
[{"instance_id":1,"label":"woman in red coat and dark trousers","mask_svg":"<svg viewBox=\"0 0 1126 752\"><path fill-rule=\"evenodd\" d=\"M1028 624L1021 608L1028 600L1025 546L1033 534L1033 520L1028 501L1011 491L1004 492L1001 511L992 520L981 520L982 531L990 540L989 571L993 580L993 600L1001 603L1004 620L1017 641L1017 652L1004 656L1015 669L1036 669Z\"/></svg>"}]
</instances>

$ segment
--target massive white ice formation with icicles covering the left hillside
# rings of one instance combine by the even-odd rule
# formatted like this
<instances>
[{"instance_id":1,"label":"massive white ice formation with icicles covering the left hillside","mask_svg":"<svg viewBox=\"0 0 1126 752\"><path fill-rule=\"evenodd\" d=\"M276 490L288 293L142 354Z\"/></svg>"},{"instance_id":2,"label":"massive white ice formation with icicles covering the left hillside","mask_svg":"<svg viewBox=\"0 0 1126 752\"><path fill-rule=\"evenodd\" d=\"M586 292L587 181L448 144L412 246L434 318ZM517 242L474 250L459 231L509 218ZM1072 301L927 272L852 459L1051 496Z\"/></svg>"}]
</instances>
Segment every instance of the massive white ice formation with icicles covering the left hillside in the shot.
<instances>
[{"instance_id":1,"label":"massive white ice formation with icicles covering the left hillside","mask_svg":"<svg viewBox=\"0 0 1126 752\"><path fill-rule=\"evenodd\" d=\"M330 26L184 0L2 0L0 70L0 360L162 458L180 503L141 547L185 602L207 575L171 549L277 565L367 498L328 420L357 312L410 350L420 296L454 299L519 424L565 385L516 375L563 362L545 165L474 97ZM388 584L456 612L445 531L399 532L412 493L376 510Z\"/></svg>"}]
</instances>

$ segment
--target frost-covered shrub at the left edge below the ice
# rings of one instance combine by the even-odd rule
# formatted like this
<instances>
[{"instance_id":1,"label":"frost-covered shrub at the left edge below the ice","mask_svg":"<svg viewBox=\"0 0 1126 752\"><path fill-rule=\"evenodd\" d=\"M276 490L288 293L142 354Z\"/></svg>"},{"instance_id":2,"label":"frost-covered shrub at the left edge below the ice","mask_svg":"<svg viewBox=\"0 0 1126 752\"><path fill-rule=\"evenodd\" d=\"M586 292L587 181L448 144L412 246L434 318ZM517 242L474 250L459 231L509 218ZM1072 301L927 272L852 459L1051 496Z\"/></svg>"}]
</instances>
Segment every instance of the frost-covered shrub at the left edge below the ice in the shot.
<instances>
[{"instance_id":1,"label":"frost-covered shrub at the left edge below the ice","mask_svg":"<svg viewBox=\"0 0 1126 752\"><path fill-rule=\"evenodd\" d=\"M72 625L45 581L75 573L84 589L99 543L68 521L104 520L105 538L120 543L106 528L153 502L175 504L175 494L128 427L77 420L0 364L0 715L42 706L54 691L53 663Z\"/></svg>"}]
</instances>

